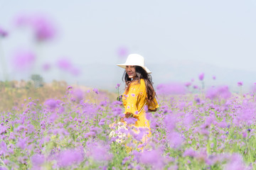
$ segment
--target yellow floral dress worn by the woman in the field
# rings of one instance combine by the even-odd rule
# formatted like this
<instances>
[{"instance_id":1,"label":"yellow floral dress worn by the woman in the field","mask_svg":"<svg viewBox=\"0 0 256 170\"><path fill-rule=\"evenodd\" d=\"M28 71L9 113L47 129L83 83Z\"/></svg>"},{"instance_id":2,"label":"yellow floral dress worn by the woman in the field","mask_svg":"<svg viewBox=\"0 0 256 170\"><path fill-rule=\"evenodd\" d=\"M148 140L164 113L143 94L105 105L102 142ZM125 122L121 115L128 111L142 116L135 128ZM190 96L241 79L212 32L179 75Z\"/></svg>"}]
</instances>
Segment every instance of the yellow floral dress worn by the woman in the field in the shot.
<instances>
[{"instance_id":1,"label":"yellow floral dress worn by the woman in the field","mask_svg":"<svg viewBox=\"0 0 256 170\"><path fill-rule=\"evenodd\" d=\"M146 119L145 103L150 110L159 108L156 98L154 98L154 103L147 103L146 96L145 81L140 79L140 84L138 81L132 82L129 86L129 91L127 93L124 91L122 97L124 113L132 113L132 116L137 118L133 126L138 130L139 128L147 128L149 130L148 134L143 137L142 142L146 142L146 139L151 135L149 120Z\"/></svg>"}]
</instances>

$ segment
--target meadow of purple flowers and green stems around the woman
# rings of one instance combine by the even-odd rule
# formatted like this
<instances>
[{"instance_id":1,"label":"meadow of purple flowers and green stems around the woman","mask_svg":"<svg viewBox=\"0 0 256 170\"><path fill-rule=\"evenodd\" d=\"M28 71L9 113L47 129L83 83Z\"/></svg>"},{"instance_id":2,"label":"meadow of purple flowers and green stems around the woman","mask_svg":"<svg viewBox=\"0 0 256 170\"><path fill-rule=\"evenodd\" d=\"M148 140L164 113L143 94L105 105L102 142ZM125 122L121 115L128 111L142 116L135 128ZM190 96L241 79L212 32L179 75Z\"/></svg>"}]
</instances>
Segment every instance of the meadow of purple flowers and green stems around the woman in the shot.
<instances>
[{"instance_id":1,"label":"meadow of purple flowers and green stems around the woman","mask_svg":"<svg viewBox=\"0 0 256 170\"><path fill-rule=\"evenodd\" d=\"M146 143L146 130L109 127L123 116L122 103L97 89L67 86L58 99L23 98L0 114L0 169L255 169L254 93L156 89L160 108L146 112ZM129 137L117 142L112 130Z\"/></svg>"}]
</instances>

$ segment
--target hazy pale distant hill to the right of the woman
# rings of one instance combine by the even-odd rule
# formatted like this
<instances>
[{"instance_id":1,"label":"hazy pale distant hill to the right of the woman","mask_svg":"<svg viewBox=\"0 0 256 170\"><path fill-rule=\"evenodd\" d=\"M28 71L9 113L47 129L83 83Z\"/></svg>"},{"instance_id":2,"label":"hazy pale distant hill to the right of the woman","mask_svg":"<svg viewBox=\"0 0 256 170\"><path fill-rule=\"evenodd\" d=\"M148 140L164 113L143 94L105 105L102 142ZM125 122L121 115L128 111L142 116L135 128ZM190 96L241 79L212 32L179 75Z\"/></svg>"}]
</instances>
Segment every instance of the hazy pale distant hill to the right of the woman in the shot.
<instances>
[{"instance_id":1,"label":"hazy pale distant hill to the right of the woman","mask_svg":"<svg viewBox=\"0 0 256 170\"><path fill-rule=\"evenodd\" d=\"M209 86L228 85L233 91L238 91L238 81L243 82L243 89L249 90L256 82L256 72L250 72L238 69L229 69L216 67L211 64L198 62L164 62L164 64L149 64L149 68L155 69L154 81L156 84L168 81L191 81L194 79L194 84L200 84L198 74L205 73L204 82L206 88ZM159 69L161 68L161 69ZM213 80L213 76L216 77Z\"/></svg>"}]
</instances>

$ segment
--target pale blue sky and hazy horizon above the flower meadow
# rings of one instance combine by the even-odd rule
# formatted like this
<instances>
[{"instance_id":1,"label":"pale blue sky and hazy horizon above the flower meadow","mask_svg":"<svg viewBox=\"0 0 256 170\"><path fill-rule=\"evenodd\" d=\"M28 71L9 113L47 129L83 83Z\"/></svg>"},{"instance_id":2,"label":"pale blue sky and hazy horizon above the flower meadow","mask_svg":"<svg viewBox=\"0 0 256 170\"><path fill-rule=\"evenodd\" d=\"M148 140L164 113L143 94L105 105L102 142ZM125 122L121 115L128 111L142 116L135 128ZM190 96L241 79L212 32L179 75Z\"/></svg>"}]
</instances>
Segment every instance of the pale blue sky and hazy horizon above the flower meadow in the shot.
<instances>
[{"instance_id":1,"label":"pale blue sky and hazy horizon above the flower meadow","mask_svg":"<svg viewBox=\"0 0 256 170\"><path fill-rule=\"evenodd\" d=\"M23 14L46 16L55 27L55 38L36 44L31 30L14 25ZM53 66L40 73L46 81L65 79L114 89L123 73L116 64L126 60L117 50L124 47L145 57L156 85L191 81L205 72L208 84L215 75L218 84L243 81L249 86L256 82L255 16L252 0L0 0L0 27L9 32L0 39L0 55L9 79L28 79L30 70L17 72L11 57L17 49L29 49L36 51L37 63ZM56 68L61 58L81 74L75 77Z\"/></svg>"}]
</instances>

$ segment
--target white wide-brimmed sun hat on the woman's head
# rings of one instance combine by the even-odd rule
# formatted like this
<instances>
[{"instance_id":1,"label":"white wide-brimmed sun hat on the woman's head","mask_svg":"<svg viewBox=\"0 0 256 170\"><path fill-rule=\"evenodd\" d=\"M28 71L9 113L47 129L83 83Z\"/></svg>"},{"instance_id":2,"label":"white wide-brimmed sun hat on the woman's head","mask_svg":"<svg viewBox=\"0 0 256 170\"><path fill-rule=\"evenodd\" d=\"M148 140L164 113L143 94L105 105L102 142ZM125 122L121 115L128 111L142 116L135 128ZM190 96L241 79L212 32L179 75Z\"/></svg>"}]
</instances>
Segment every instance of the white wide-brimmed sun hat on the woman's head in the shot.
<instances>
[{"instance_id":1,"label":"white wide-brimmed sun hat on the woman's head","mask_svg":"<svg viewBox=\"0 0 256 170\"><path fill-rule=\"evenodd\" d=\"M128 55L127 61L124 64L117 64L117 66L122 67L125 69L127 65L135 65L142 67L148 74L151 74L148 68L145 66L144 57L138 54L131 54Z\"/></svg>"}]
</instances>

